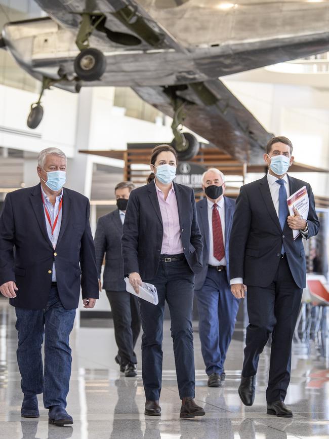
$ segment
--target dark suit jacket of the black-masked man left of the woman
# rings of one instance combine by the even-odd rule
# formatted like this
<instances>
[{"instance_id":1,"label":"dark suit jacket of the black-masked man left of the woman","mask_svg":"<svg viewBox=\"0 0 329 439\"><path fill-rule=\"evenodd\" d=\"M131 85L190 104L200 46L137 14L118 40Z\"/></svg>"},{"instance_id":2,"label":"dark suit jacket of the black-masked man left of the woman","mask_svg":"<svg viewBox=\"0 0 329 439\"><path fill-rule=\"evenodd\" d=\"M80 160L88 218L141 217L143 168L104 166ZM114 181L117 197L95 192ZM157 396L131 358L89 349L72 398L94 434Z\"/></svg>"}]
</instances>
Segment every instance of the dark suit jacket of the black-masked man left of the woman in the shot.
<instances>
[{"instance_id":1,"label":"dark suit jacket of the black-masked man left of the woman","mask_svg":"<svg viewBox=\"0 0 329 439\"><path fill-rule=\"evenodd\" d=\"M121 255L121 236L122 222L118 209L99 218L94 243L99 278L106 253L103 273L103 288L105 290L126 291L124 262Z\"/></svg>"}]
</instances>

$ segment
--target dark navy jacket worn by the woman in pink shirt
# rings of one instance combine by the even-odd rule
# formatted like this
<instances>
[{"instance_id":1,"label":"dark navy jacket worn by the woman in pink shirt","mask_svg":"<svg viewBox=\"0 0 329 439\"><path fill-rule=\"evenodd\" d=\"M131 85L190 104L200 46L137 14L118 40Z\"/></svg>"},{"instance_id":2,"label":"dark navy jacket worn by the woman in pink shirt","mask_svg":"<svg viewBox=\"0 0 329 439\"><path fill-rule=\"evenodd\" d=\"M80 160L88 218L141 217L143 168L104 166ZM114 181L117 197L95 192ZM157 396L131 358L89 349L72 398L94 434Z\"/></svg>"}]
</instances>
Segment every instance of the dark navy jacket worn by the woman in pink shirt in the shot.
<instances>
[{"instance_id":1,"label":"dark navy jacket worn by the woman in pink shirt","mask_svg":"<svg viewBox=\"0 0 329 439\"><path fill-rule=\"evenodd\" d=\"M202 269L202 241L196 218L194 192L187 186L174 183L183 251L194 273ZM161 254L163 225L155 184L132 191L128 200L122 256L124 272L138 272L142 280L155 277Z\"/></svg>"}]
</instances>

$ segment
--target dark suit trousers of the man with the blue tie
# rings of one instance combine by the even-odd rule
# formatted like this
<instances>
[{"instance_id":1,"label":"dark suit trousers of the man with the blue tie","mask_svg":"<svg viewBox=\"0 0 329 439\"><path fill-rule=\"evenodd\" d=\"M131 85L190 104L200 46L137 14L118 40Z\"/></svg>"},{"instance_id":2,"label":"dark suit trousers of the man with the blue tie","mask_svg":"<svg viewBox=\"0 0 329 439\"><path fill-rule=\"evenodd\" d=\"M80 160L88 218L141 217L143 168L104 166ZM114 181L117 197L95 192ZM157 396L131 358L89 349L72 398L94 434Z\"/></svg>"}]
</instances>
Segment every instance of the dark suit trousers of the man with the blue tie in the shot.
<instances>
[{"instance_id":1,"label":"dark suit trousers of the man with the blue tie","mask_svg":"<svg viewBox=\"0 0 329 439\"><path fill-rule=\"evenodd\" d=\"M280 259L273 282L266 288L247 285L249 326L242 376L256 374L259 355L272 333L266 401L284 401L290 382L291 351L303 290L292 276L286 257Z\"/></svg>"}]
</instances>

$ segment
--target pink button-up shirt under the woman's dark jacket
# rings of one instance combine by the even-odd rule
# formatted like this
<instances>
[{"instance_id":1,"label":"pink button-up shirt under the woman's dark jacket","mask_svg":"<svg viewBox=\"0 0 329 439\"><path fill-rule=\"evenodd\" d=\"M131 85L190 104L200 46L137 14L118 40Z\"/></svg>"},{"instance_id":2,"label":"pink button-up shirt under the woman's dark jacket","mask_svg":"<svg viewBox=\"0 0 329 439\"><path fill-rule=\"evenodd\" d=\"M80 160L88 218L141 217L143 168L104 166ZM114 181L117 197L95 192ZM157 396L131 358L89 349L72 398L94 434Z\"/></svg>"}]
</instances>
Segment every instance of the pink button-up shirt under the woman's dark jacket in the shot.
<instances>
[{"instance_id":1,"label":"pink button-up shirt under the woman's dark jacket","mask_svg":"<svg viewBox=\"0 0 329 439\"><path fill-rule=\"evenodd\" d=\"M174 185L172 185L166 200L162 190L156 184L155 188L163 224L161 254L178 255L183 253L183 244Z\"/></svg>"}]
</instances>

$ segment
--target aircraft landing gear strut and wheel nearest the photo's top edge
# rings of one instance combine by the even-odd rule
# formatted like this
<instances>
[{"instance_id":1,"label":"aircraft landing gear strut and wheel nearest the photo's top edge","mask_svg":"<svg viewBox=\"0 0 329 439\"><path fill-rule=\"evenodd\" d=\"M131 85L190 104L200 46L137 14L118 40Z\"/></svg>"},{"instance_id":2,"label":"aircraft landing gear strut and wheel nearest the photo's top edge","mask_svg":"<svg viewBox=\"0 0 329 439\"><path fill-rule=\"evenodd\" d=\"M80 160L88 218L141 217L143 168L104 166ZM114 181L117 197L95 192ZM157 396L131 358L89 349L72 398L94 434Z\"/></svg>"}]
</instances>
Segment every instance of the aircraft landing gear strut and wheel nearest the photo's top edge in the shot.
<instances>
[{"instance_id":1,"label":"aircraft landing gear strut and wheel nearest the photo's top edge","mask_svg":"<svg viewBox=\"0 0 329 439\"><path fill-rule=\"evenodd\" d=\"M80 53L74 60L74 70L82 81L97 81L106 69L106 58L98 50L89 47L89 37L96 27L104 20L104 14L81 14L82 21L75 43Z\"/></svg>"}]
</instances>

